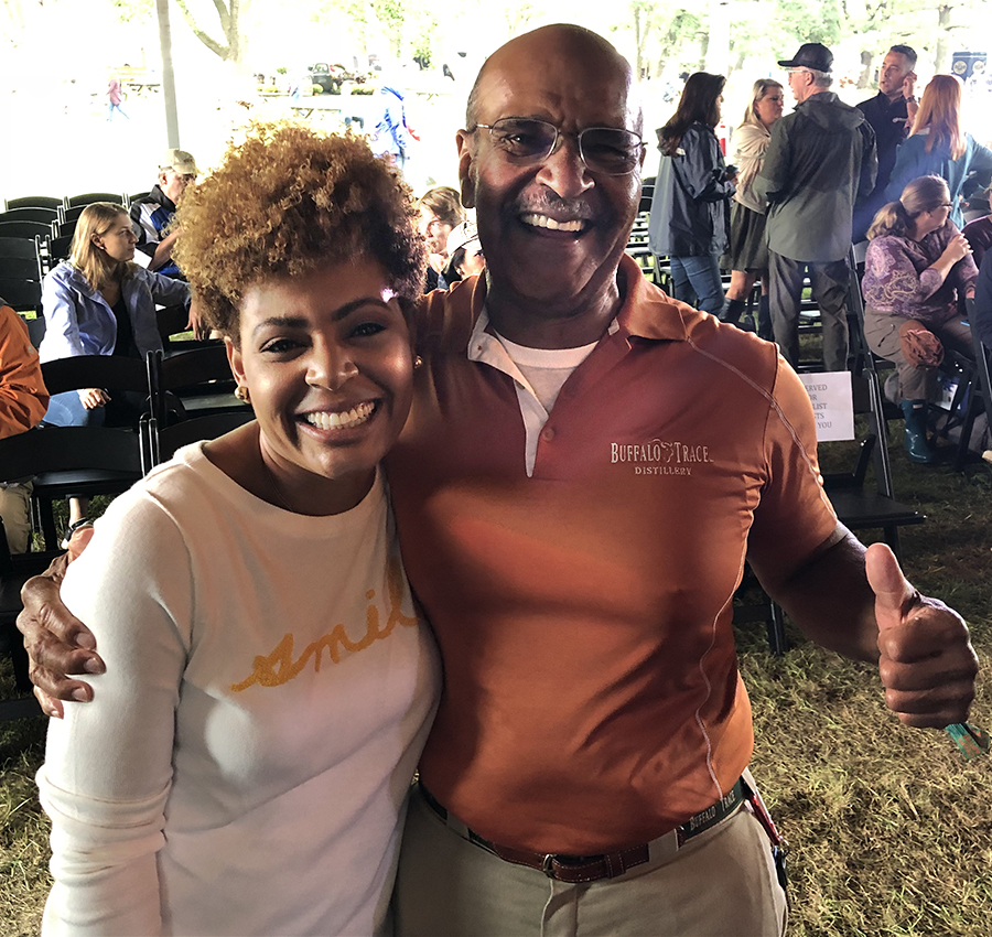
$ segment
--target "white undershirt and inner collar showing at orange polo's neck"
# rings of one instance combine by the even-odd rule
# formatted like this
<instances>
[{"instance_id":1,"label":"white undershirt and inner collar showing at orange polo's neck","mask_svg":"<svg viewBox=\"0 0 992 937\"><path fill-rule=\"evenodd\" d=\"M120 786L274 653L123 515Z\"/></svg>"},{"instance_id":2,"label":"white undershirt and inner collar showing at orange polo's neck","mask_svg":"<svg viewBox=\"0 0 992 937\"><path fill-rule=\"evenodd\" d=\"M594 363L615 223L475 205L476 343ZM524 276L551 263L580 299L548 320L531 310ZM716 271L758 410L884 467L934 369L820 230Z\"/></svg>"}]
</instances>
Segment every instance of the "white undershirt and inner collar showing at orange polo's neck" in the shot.
<instances>
[{"instance_id":1,"label":"white undershirt and inner collar showing at orange polo's neck","mask_svg":"<svg viewBox=\"0 0 992 937\"><path fill-rule=\"evenodd\" d=\"M514 379L520 416L524 418L524 460L529 478L533 475L541 430L548 422L559 391L599 342L579 348L528 348L502 335L489 334L486 331L488 324L489 316L483 310L468 342L468 359L483 362ZM607 333L612 335L617 327L614 320L610 323Z\"/></svg>"}]
</instances>

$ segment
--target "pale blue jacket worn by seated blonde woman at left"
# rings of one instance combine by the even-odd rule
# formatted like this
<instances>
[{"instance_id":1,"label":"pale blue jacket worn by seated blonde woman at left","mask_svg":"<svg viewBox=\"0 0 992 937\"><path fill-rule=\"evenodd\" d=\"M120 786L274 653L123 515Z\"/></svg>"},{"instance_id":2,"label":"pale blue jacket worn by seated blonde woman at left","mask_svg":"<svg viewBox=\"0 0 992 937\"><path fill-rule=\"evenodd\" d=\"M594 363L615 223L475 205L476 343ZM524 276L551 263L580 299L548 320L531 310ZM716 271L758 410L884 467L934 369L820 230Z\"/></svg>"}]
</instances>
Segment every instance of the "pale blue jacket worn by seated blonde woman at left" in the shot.
<instances>
[{"instance_id":1,"label":"pale blue jacket worn by seated blonde woman at left","mask_svg":"<svg viewBox=\"0 0 992 937\"><path fill-rule=\"evenodd\" d=\"M190 287L131 265L121 284L131 317L134 344L141 357L162 347L155 322L155 303L174 305L190 301ZM103 295L67 260L45 276L42 286L45 337L37 349L42 362L76 355L110 355L117 343L117 320Z\"/></svg>"}]
</instances>

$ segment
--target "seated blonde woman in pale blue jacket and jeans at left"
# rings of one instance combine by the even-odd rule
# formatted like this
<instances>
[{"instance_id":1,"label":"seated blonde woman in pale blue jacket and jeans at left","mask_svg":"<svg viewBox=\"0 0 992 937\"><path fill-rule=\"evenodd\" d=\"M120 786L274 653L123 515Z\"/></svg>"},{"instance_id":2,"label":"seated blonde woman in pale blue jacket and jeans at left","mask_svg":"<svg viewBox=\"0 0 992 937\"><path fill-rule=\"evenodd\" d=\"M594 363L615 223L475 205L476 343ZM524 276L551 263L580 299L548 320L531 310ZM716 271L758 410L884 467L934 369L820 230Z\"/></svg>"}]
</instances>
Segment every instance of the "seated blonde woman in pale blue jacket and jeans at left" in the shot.
<instances>
[{"instance_id":1,"label":"seated blonde woman in pale blue jacket and jeans at left","mask_svg":"<svg viewBox=\"0 0 992 937\"><path fill-rule=\"evenodd\" d=\"M185 303L186 283L152 273L132 262L138 238L121 205L95 202L79 215L72 256L44 280L45 337L42 362L77 355L144 358L161 348L155 303ZM61 427L132 426L140 401L90 387L56 394L45 422Z\"/></svg>"}]
</instances>

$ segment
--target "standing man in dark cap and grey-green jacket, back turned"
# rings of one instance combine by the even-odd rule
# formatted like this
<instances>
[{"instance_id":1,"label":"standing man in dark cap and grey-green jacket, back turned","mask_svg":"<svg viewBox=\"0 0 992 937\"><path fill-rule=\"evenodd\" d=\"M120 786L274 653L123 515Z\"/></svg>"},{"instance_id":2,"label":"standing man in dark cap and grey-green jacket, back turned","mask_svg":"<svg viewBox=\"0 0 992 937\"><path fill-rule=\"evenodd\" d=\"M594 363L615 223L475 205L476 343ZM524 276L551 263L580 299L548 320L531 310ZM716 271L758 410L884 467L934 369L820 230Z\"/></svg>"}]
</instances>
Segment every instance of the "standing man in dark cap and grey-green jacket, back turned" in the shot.
<instances>
[{"instance_id":1,"label":"standing man in dark cap and grey-green jacket, back turned","mask_svg":"<svg viewBox=\"0 0 992 937\"><path fill-rule=\"evenodd\" d=\"M808 268L823 323L827 370L848 363L848 250L854 202L875 184L875 134L856 108L829 90L833 55L817 42L779 62L796 110L772 128L754 182L768 198L772 326L786 360L799 363L799 299Z\"/></svg>"}]
</instances>

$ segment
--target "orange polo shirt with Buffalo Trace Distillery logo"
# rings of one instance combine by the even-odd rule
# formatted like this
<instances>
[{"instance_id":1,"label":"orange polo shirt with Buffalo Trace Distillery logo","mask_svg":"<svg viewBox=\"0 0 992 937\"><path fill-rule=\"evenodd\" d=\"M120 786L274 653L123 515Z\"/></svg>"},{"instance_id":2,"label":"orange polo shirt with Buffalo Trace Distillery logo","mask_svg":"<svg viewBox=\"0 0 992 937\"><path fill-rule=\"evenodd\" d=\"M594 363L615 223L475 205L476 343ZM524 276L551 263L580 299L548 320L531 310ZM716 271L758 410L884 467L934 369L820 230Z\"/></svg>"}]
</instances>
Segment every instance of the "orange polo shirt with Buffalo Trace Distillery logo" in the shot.
<instances>
[{"instance_id":1,"label":"orange polo shirt with Buffalo Trace Distillery logo","mask_svg":"<svg viewBox=\"0 0 992 937\"><path fill-rule=\"evenodd\" d=\"M421 760L481 836L587 855L649 841L747 765L731 600L745 554L834 530L812 410L774 345L668 299L624 303L561 389L533 474L514 380L467 354L485 283L425 303L387 460L444 690Z\"/></svg>"}]
</instances>

